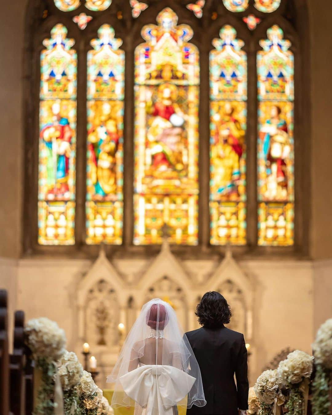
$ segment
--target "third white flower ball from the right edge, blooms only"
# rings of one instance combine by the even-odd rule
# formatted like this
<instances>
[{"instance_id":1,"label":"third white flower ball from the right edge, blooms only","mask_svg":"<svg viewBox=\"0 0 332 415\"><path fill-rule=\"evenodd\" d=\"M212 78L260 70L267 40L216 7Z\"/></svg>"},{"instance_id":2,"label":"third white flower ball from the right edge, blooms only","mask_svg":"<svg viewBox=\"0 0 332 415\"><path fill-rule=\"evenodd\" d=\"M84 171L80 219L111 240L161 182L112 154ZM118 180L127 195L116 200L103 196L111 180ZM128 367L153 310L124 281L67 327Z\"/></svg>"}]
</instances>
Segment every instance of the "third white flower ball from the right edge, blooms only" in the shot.
<instances>
[{"instance_id":1,"label":"third white flower ball from the right edge, blooms only","mask_svg":"<svg viewBox=\"0 0 332 415\"><path fill-rule=\"evenodd\" d=\"M281 395L283 380L276 370L266 370L257 379L254 392L260 403L273 405L277 396Z\"/></svg>"}]
</instances>

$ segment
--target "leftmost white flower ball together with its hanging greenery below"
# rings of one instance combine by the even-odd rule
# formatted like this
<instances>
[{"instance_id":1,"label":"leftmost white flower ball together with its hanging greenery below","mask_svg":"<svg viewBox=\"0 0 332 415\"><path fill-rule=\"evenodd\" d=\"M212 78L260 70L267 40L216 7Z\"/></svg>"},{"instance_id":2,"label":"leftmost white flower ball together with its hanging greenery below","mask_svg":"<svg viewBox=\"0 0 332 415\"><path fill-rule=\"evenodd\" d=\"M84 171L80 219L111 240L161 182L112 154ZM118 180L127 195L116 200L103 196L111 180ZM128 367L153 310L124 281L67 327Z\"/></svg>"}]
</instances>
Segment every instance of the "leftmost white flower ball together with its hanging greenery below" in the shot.
<instances>
[{"instance_id":1,"label":"leftmost white flower ball together with its hanging greenery below","mask_svg":"<svg viewBox=\"0 0 332 415\"><path fill-rule=\"evenodd\" d=\"M41 317L27 322L24 328L25 343L32 352L36 366L41 370L36 414L53 415L56 364L64 353L66 336L56 322Z\"/></svg>"}]
</instances>

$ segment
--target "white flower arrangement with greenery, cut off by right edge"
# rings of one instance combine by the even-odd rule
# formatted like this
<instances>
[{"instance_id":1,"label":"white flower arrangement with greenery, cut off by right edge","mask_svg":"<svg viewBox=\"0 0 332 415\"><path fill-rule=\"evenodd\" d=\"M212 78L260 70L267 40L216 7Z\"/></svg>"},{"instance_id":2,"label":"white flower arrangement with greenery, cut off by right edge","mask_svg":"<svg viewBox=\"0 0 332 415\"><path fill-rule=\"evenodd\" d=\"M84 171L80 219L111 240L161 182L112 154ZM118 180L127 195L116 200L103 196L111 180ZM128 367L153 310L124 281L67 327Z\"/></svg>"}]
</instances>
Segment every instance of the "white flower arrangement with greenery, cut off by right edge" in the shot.
<instances>
[{"instance_id":1,"label":"white flower arrangement with greenery, cut off by right edge","mask_svg":"<svg viewBox=\"0 0 332 415\"><path fill-rule=\"evenodd\" d=\"M332 319L320 326L312 349L316 364L315 380L312 383L312 414L329 415L332 405Z\"/></svg>"}]
</instances>

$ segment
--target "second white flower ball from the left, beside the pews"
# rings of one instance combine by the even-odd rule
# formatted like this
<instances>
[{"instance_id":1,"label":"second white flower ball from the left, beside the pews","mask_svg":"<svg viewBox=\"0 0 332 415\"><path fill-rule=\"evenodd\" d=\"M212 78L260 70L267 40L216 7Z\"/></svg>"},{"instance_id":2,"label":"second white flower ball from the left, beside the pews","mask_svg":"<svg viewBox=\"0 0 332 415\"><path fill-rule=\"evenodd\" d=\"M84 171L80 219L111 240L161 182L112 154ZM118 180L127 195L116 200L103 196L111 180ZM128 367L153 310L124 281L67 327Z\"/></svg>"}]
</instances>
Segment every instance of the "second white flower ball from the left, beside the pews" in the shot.
<instances>
[{"instance_id":1,"label":"second white flower ball from the left, beside the pews","mask_svg":"<svg viewBox=\"0 0 332 415\"><path fill-rule=\"evenodd\" d=\"M83 367L74 352L64 352L56 363L63 391L69 391L80 383Z\"/></svg>"}]
</instances>

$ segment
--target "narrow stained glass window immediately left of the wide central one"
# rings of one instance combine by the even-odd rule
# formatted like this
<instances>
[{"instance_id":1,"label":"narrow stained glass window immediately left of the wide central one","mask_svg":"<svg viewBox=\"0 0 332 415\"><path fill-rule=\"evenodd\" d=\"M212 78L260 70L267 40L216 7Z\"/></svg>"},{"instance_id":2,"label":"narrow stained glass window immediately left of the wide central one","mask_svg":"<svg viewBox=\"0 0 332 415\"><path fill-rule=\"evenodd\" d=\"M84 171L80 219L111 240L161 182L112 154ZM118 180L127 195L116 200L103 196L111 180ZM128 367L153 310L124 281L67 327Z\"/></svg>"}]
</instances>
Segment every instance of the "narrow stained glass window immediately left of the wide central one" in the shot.
<instances>
[{"instance_id":1,"label":"narrow stained glass window immediately left of the wide central one","mask_svg":"<svg viewBox=\"0 0 332 415\"><path fill-rule=\"evenodd\" d=\"M125 52L104 24L88 52L86 242L122 243Z\"/></svg>"}]
</instances>

